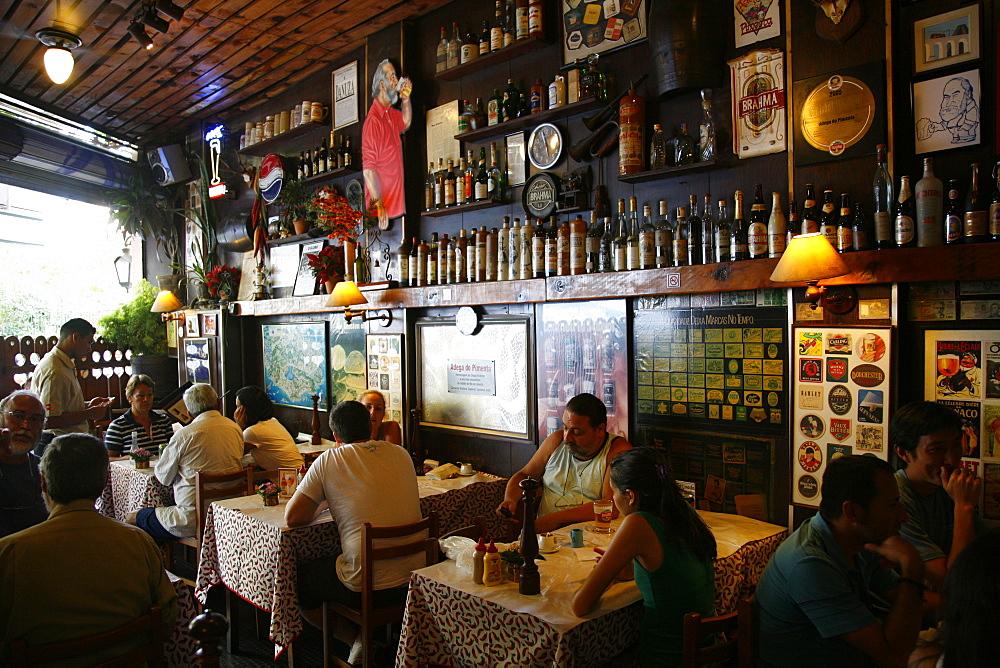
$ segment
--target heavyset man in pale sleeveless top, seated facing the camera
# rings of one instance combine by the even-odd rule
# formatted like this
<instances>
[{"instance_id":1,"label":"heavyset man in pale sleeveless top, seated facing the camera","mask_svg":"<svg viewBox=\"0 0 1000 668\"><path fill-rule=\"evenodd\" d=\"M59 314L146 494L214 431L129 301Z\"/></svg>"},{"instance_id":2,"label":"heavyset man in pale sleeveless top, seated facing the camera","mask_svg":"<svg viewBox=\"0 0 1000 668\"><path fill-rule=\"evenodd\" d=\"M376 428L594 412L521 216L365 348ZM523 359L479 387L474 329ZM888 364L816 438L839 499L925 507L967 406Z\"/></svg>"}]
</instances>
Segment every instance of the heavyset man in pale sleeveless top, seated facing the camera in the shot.
<instances>
[{"instance_id":1,"label":"heavyset man in pale sleeveless top, seated facing the camera","mask_svg":"<svg viewBox=\"0 0 1000 668\"><path fill-rule=\"evenodd\" d=\"M608 411L593 394L578 394L566 404L563 428L549 434L531 460L507 481L497 514L516 519L519 483L541 479L542 499L535 528L545 533L594 519L594 501L611 499L611 460L631 449L607 430Z\"/></svg>"}]
</instances>

